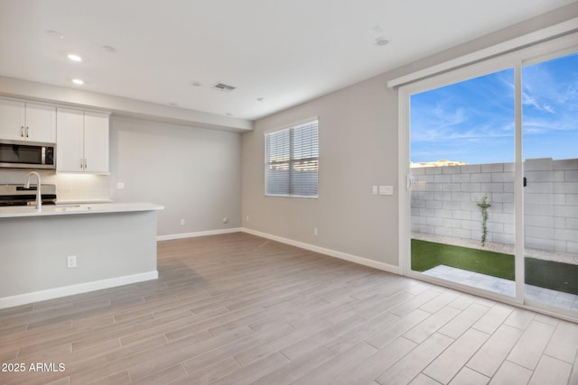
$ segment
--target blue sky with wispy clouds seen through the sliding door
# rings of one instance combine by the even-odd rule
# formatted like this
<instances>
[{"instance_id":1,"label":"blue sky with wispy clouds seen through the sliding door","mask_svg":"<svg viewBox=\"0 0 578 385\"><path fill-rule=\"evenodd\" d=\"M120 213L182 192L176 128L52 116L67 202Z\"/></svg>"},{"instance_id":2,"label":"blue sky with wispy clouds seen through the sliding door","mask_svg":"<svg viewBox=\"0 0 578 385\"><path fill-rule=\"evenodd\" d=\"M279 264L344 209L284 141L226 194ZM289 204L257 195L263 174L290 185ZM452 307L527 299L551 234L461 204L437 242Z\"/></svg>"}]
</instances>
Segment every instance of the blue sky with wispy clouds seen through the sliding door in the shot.
<instances>
[{"instance_id":1,"label":"blue sky with wispy clouds seen through the sliding door","mask_svg":"<svg viewBox=\"0 0 578 385\"><path fill-rule=\"evenodd\" d=\"M522 69L524 159L578 158L578 54ZM411 160L514 161L514 69L411 96Z\"/></svg>"}]
</instances>

